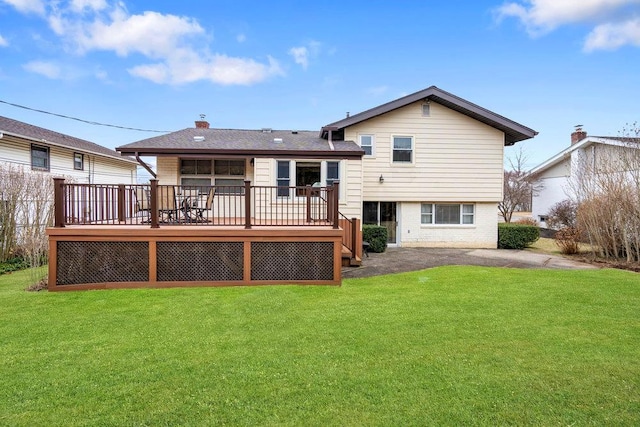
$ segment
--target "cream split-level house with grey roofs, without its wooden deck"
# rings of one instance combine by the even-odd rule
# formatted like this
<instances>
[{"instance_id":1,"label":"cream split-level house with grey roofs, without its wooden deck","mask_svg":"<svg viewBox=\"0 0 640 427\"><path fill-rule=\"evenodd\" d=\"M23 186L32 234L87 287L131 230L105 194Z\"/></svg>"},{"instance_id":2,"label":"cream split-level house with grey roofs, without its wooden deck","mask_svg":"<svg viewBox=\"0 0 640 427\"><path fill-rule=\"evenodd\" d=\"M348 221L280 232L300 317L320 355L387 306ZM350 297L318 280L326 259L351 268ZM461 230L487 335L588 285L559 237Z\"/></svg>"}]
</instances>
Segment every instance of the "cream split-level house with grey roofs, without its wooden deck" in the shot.
<instances>
[{"instance_id":1,"label":"cream split-level house with grey roofs, without its wooden deck","mask_svg":"<svg viewBox=\"0 0 640 427\"><path fill-rule=\"evenodd\" d=\"M157 157L161 185L339 181L340 212L387 227L391 245L495 248L504 147L536 134L432 86L319 133L211 129L200 120L117 151Z\"/></svg>"}]
</instances>

